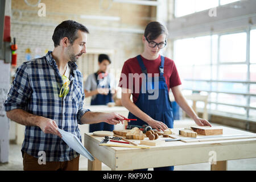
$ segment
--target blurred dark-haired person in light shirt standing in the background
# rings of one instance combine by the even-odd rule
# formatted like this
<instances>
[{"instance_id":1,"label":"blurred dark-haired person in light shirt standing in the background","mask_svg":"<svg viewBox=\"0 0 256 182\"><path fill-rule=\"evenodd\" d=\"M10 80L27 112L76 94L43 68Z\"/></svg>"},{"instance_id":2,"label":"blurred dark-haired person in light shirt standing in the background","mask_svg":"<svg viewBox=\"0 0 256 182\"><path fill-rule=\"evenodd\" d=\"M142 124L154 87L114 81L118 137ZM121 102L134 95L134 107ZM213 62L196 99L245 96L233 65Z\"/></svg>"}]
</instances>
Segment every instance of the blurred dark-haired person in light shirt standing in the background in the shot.
<instances>
[{"instance_id":1,"label":"blurred dark-haired person in light shirt standing in the background","mask_svg":"<svg viewBox=\"0 0 256 182\"><path fill-rule=\"evenodd\" d=\"M85 97L92 97L90 105L107 105L109 102L114 102L115 94L114 77L108 73L111 60L108 55L100 54L98 56L98 71L88 76L84 84ZM113 131L114 126L108 123L101 122L91 124L89 132L94 131Z\"/></svg>"}]
</instances>

